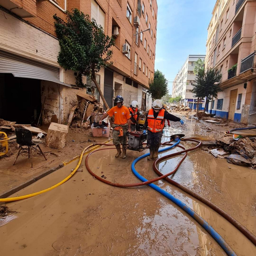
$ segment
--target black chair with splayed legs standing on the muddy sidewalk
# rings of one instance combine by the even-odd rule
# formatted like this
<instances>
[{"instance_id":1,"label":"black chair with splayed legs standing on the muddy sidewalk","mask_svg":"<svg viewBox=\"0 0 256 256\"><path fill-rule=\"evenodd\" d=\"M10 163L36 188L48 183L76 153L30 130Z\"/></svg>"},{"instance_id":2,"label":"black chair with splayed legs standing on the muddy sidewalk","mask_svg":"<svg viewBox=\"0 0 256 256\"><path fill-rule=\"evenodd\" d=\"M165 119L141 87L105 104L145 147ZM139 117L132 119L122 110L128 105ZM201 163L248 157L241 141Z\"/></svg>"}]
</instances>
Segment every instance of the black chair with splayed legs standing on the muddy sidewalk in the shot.
<instances>
[{"instance_id":1,"label":"black chair with splayed legs standing on the muddy sidewalk","mask_svg":"<svg viewBox=\"0 0 256 256\"><path fill-rule=\"evenodd\" d=\"M42 155L44 156L44 159L47 160L43 151L41 150L41 148L39 146L39 144L42 143L42 141L40 141L38 139L33 139L31 131L29 131L27 129L16 128L15 133L16 133L16 141L19 144L20 148L19 148L18 155L17 155L13 165L15 165L21 150L22 150L21 152L28 151L28 158L30 158L30 161L31 161L31 168L33 167L32 150L41 152ZM26 148L23 148L24 146L26 146Z\"/></svg>"}]
</instances>

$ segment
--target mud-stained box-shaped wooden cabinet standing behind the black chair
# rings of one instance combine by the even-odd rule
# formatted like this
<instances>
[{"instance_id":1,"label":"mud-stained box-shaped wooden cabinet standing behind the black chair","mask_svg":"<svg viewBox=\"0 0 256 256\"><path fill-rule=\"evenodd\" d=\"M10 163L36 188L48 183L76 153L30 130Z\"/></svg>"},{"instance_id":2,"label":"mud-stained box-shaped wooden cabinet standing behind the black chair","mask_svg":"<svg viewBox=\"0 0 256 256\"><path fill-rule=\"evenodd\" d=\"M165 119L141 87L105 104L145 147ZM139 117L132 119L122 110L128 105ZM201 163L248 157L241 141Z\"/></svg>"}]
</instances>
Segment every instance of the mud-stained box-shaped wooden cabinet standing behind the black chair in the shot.
<instances>
[{"instance_id":1,"label":"mud-stained box-shaped wooden cabinet standing behind the black chair","mask_svg":"<svg viewBox=\"0 0 256 256\"><path fill-rule=\"evenodd\" d=\"M69 131L68 125L51 123L46 137L46 146L50 148L64 148Z\"/></svg>"}]
</instances>

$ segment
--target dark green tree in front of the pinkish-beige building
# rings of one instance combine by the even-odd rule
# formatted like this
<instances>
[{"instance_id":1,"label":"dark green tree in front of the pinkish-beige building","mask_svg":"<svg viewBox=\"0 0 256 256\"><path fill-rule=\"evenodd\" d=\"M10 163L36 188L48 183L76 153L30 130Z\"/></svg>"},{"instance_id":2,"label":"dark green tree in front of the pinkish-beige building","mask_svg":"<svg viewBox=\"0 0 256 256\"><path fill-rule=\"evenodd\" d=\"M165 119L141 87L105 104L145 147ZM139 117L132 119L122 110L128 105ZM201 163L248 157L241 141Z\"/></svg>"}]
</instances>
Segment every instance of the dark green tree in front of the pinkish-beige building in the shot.
<instances>
[{"instance_id":1,"label":"dark green tree in front of the pinkish-beige building","mask_svg":"<svg viewBox=\"0 0 256 256\"><path fill-rule=\"evenodd\" d=\"M194 93L195 97L198 98L206 98L205 103L207 104L208 100L211 97L216 98L218 92L221 92L222 89L220 88L218 82L222 77L221 71L218 68L209 68L204 72L200 70L199 73L196 75L195 84L193 85L192 92ZM197 101L198 104L199 101ZM198 109L198 108L197 108ZM205 112L205 109L204 109Z\"/></svg>"}]
</instances>

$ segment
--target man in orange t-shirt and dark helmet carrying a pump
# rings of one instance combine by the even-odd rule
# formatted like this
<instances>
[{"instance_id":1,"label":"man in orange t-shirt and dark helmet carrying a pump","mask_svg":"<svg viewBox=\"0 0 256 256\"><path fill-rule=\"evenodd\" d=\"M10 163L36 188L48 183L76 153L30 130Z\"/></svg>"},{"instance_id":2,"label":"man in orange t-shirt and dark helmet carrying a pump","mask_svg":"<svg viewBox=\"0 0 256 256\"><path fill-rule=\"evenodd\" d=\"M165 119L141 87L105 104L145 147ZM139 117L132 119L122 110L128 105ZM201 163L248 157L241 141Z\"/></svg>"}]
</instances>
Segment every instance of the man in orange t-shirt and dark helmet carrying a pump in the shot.
<instances>
[{"instance_id":1,"label":"man in orange t-shirt and dark helmet carrying a pump","mask_svg":"<svg viewBox=\"0 0 256 256\"><path fill-rule=\"evenodd\" d=\"M121 155L121 146L123 147L122 158L126 158L126 133L131 131L131 114L125 106L123 106L123 97L121 95L117 95L115 98L115 103L117 106L111 108L107 113L105 113L100 119L100 124L102 120L108 116L114 116L114 123L112 125L113 130L113 144L116 147L117 154L115 157L119 157Z\"/></svg>"}]
</instances>

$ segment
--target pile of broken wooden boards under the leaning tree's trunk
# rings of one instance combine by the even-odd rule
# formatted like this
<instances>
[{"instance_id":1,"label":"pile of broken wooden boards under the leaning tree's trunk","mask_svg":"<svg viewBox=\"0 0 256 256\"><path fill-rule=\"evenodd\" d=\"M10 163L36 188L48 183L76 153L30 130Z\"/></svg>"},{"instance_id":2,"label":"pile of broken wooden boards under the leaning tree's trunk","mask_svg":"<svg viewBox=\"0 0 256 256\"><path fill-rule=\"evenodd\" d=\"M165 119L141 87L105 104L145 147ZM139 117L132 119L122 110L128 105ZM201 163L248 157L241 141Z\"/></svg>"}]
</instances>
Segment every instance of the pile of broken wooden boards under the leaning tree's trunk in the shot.
<instances>
[{"instance_id":1,"label":"pile of broken wooden boards under the leaning tree's trunk","mask_svg":"<svg viewBox=\"0 0 256 256\"><path fill-rule=\"evenodd\" d=\"M102 116L102 104L94 96L78 92L77 102L73 104L66 123L73 128L88 129L92 123L98 123Z\"/></svg>"}]
</instances>

